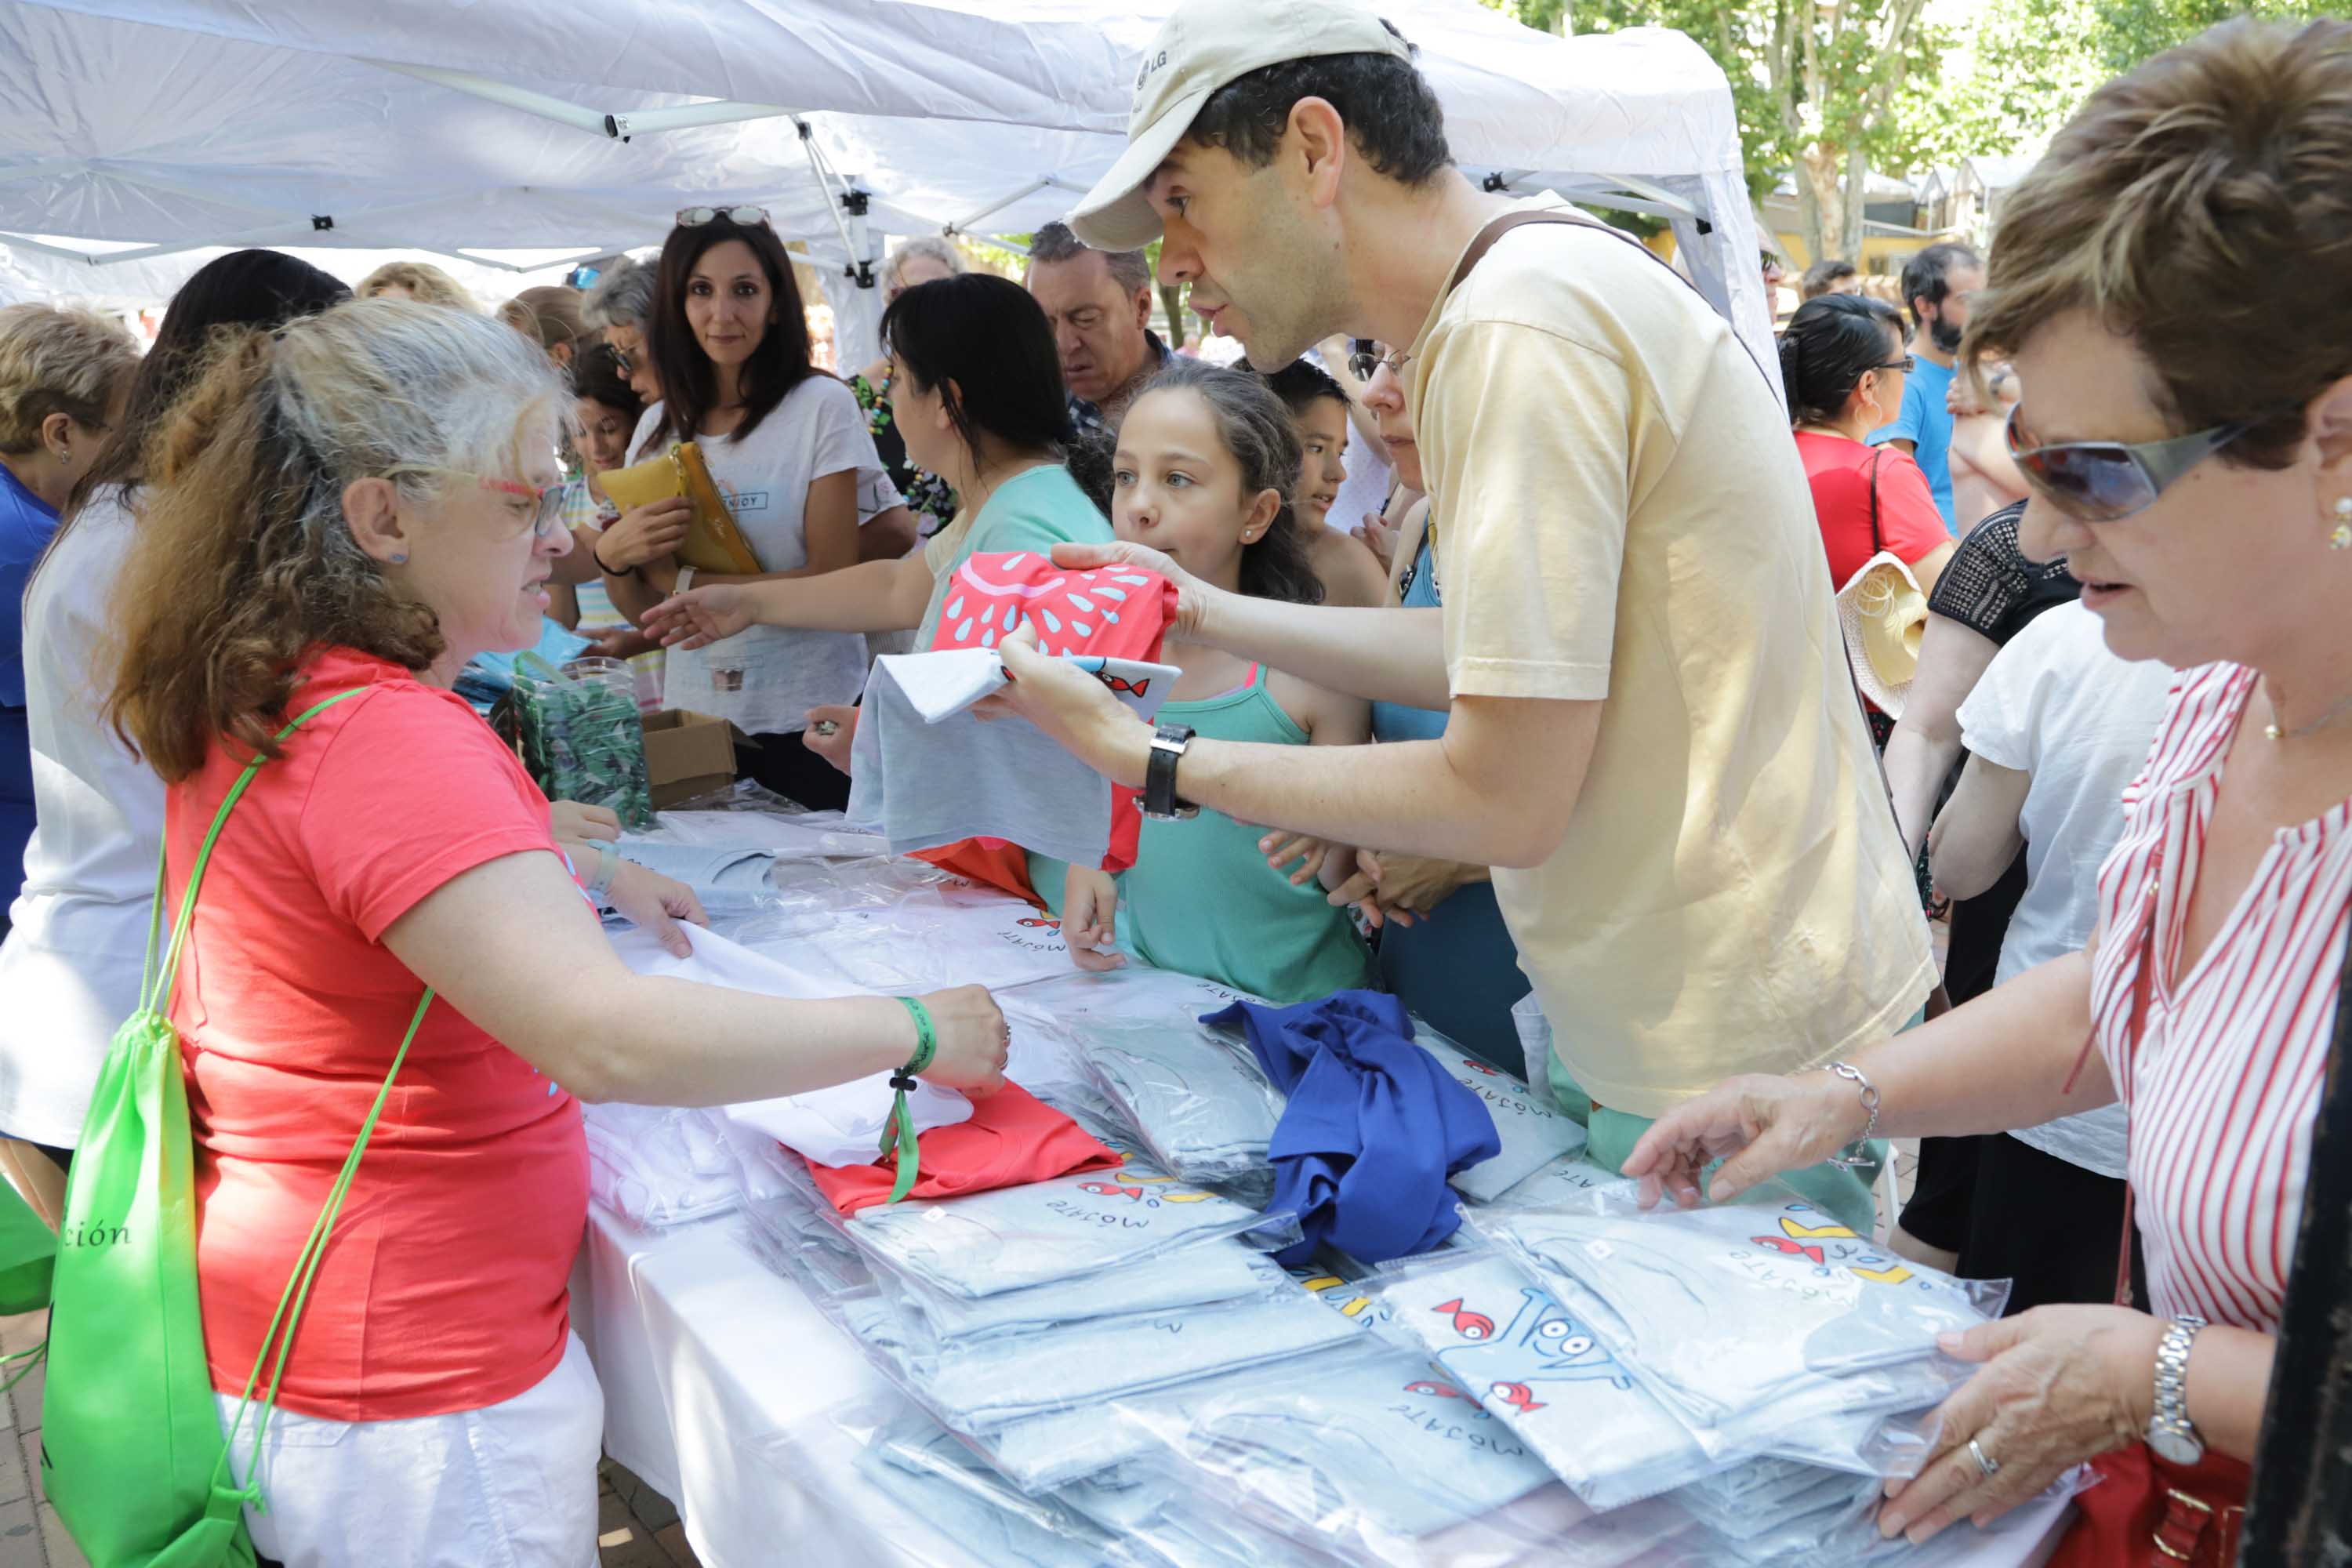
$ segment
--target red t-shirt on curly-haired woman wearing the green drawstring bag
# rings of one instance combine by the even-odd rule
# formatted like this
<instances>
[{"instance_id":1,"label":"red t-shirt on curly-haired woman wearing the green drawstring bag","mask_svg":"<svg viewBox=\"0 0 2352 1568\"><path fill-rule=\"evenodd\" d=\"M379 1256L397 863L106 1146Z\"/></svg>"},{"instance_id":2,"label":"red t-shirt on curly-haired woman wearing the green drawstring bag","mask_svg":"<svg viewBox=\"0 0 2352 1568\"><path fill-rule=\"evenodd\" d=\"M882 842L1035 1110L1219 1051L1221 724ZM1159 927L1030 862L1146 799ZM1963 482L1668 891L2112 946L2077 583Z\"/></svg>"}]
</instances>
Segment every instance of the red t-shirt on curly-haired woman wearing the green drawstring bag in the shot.
<instances>
[{"instance_id":1,"label":"red t-shirt on curly-haired woman wearing the green drawstring bag","mask_svg":"<svg viewBox=\"0 0 2352 1568\"><path fill-rule=\"evenodd\" d=\"M195 1135L198 1284L216 1389L278 1295L416 1011L379 945L433 889L555 853L548 802L463 698L350 649L318 654L287 741L221 830L169 1006ZM165 809L172 905L249 752L216 748ZM588 1215L572 1095L435 999L310 1291L280 1403L329 1420L477 1410L562 1359Z\"/></svg>"}]
</instances>

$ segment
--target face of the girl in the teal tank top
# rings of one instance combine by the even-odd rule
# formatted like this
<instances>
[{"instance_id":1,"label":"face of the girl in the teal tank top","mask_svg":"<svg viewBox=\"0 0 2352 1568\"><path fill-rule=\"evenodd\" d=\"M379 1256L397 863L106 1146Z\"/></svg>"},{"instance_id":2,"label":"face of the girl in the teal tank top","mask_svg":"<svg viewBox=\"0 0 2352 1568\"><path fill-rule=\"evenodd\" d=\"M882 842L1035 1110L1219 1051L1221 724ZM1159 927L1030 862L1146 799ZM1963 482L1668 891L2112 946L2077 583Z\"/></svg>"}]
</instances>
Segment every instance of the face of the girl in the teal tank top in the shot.
<instances>
[{"instance_id":1,"label":"face of the girl in the teal tank top","mask_svg":"<svg viewBox=\"0 0 2352 1568\"><path fill-rule=\"evenodd\" d=\"M1127 411L1110 498L1112 534L1218 588L1242 581L1242 545L1282 510L1279 491L1244 491L1216 414L1190 388L1145 393Z\"/></svg>"}]
</instances>

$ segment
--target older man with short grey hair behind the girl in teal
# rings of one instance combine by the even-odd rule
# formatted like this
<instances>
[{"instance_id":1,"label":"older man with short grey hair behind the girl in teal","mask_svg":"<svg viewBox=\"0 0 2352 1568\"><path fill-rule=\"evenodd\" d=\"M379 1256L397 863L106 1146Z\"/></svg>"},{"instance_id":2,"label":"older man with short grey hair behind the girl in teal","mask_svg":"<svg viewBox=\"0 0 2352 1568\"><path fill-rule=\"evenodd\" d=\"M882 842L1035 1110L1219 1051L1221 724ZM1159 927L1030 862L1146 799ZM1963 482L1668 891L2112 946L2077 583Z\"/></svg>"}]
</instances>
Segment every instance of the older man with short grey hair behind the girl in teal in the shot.
<instances>
[{"instance_id":1,"label":"older man with short grey hair behind the girl in teal","mask_svg":"<svg viewBox=\"0 0 2352 1568\"><path fill-rule=\"evenodd\" d=\"M1108 430L1169 357L1150 329L1150 261L1089 249L1068 223L1047 223L1030 240L1023 282L1054 327L1070 423L1080 435Z\"/></svg>"}]
</instances>

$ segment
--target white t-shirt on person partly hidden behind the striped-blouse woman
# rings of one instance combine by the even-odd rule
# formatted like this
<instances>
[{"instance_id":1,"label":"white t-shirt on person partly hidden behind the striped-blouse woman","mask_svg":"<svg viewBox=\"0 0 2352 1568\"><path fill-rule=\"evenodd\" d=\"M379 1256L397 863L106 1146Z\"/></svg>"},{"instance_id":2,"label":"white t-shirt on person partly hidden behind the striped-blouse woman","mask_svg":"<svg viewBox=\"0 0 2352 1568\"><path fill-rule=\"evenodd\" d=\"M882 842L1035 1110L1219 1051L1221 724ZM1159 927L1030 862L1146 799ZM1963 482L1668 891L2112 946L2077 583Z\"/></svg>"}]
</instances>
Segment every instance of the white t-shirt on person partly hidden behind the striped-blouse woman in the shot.
<instances>
[{"instance_id":1,"label":"white t-shirt on person partly hidden behind the striped-blouse woman","mask_svg":"<svg viewBox=\"0 0 2352 1568\"><path fill-rule=\"evenodd\" d=\"M1959 705L1971 752L2027 773L2025 898L2009 917L1994 985L2079 952L2098 926L2098 867L2124 835L2124 785L2147 762L2173 670L2124 663L2082 604L2044 611L1994 654ZM2100 1175L2124 1175L2124 1107L2013 1133Z\"/></svg>"}]
</instances>

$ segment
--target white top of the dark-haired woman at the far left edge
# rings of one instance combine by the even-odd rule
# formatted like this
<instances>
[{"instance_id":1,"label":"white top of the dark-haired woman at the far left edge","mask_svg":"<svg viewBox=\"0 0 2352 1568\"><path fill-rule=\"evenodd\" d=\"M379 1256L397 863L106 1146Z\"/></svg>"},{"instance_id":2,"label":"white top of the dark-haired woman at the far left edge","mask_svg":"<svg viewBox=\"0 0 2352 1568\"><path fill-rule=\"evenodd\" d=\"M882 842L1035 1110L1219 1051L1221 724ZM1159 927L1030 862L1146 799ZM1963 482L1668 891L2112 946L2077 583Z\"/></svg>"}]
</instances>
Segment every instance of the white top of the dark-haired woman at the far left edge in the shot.
<instances>
[{"instance_id":1,"label":"white top of the dark-haired woman at the far left edge","mask_svg":"<svg viewBox=\"0 0 2352 1568\"><path fill-rule=\"evenodd\" d=\"M134 527L122 491L99 491L24 599L40 825L0 945L0 1133L56 1147L80 1140L106 1046L139 1006L155 905L162 780L99 717L96 651Z\"/></svg>"}]
</instances>

